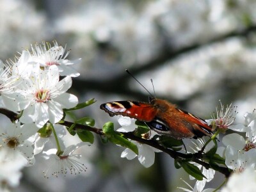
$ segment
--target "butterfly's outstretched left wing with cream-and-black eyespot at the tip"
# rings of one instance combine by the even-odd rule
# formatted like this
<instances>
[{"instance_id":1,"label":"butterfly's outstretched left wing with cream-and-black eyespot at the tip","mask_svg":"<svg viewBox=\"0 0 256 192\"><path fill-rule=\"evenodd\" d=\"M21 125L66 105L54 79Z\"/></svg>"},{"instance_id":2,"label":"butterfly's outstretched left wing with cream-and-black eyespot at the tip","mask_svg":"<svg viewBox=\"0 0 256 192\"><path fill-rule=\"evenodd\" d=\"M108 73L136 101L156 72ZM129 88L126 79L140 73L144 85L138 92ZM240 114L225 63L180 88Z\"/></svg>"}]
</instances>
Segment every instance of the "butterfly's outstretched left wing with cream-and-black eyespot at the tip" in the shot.
<instances>
[{"instance_id":1,"label":"butterfly's outstretched left wing with cream-and-black eyespot at the tip","mask_svg":"<svg viewBox=\"0 0 256 192\"><path fill-rule=\"evenodd\" d=\"M145 102L122 100L107 102L100 105L100 109L106 111L110 116L122 115L136 118L141 122L150 122L157 113L157 108Z\"/></svg>"}]
</instances>

